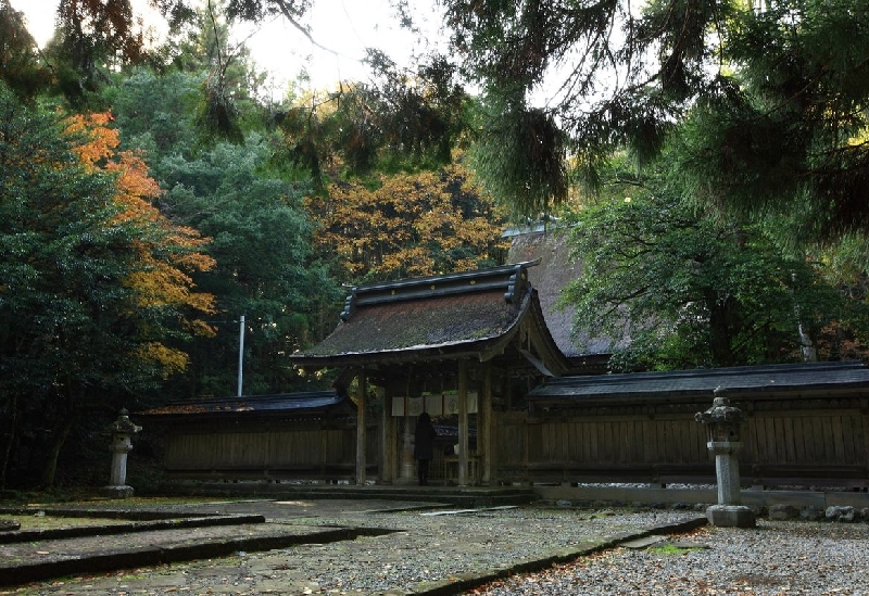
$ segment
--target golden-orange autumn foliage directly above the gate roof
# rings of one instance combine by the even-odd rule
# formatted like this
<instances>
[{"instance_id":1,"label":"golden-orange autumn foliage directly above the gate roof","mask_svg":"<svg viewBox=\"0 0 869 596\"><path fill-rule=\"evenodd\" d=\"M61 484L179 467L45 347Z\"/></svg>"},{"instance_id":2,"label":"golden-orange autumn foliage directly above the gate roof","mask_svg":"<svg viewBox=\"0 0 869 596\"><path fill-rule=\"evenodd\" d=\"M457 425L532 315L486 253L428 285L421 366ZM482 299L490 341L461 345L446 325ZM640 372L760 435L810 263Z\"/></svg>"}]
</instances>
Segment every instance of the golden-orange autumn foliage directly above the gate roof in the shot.
<instances>
[{"instance_id":1,"label":"golden-orange autumn foliage directly above the gate roof","mask_svg":"<svg viewBox=\"0 0 869 596\"><path fill-rule=\"evenodd\" d=\"M381 176L379 188L340 182L310 198L323 223L315 242L338 254L354 279L394 279L466 270L504 246L493 202L458 165Z\"/></svg>"}]
</instances>

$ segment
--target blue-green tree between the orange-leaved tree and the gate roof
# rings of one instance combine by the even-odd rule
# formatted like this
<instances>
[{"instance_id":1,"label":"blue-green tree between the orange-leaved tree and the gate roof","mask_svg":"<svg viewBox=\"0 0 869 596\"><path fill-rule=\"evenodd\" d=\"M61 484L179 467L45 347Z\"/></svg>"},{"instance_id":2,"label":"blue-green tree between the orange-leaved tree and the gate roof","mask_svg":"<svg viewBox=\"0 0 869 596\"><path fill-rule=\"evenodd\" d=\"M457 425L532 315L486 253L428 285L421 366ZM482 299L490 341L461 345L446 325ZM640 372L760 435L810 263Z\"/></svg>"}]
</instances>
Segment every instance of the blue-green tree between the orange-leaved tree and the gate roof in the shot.
<instances>
[{"instance_id":1,"label":"blue-green tree between the orange-leaved tree and the gate roof","mask_svg":"<svg viewBox=\"0 0 869 596\"><path fill-rule=\"evenodd\" d=\"M218 143L197 158L169 153L158 167L172 189L164 198L166 211L212 239L209 254L217 265L196 277L197 287L217 296L218 320L244 314L249 321L249 393L292 386L281 355L305 341L319 302L339 297L313 262L311 223L302 206L310 187L269 176L268 148L254 135L243 145ZM215 338L198 340L193 350L191 380L201 383L193 385L197 393L232 392L237 326L217 328Z\"/></svg>"}]
</instances>

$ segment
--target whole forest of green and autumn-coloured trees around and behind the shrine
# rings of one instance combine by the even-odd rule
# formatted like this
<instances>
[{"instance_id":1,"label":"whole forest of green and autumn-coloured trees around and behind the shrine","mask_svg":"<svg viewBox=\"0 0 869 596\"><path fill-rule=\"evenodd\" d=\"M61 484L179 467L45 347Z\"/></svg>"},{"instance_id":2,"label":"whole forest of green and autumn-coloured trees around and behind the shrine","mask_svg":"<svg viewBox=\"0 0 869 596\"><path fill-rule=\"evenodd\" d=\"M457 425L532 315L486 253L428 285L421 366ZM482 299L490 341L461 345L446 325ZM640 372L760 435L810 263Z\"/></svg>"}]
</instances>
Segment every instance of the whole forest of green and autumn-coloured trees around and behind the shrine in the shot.
<instances>
[{"instance_id":1,"label":"whole forest of green and autumn-coloured trees around and behind the shrine","mask_svg":"<svg viewBox=\"0 0 869 596\"><path fill-rule=\"evenodd\" d=\"M328 40L312 1L152 0L156 42L60 0L39 47L0 0L0 489L235 394L242 316L245 395L328 386L287 356L347 287L502 264L508 225L565 234L613 370L867 358L864 2L428 1L449 51L275 96L234 27Z\"/></svg>"}]
</instances>

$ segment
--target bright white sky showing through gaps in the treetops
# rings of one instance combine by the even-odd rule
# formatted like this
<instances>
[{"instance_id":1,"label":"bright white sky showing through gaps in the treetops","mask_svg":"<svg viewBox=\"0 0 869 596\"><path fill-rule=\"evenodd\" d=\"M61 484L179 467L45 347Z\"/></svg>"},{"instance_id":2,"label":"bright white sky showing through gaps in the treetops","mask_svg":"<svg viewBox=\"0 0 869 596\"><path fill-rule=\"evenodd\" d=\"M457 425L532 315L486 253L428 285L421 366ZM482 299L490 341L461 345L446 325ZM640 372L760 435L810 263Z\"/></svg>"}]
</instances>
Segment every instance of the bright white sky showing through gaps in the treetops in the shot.
<instances>
[{"instance_id":1,"label":"bright white sky showing through gaps in the treetops","mask_svg":"<svg viewBox=\"0 0 869 596\"><path fill-rule=\"evenodd\" d=\"M11 0L25 14L30 34L45 43L53 31L58 0ZM433 0L412 0L414 16L429 37L437 39L440 26ZM146 0L133 0L141 10ZM367 71L360 60L366 47L378 47L398 64L410 64L415 36L400 29L390 0L314 0L306 23L312 27L312 43L286 20L277 18L253 31L247 45L261 68L269 72L279 87L295 79L304 68L314 89L331 87L339 79L365 79ZM250 30L239 31L247 37ZM327 48L329 51L322 49Z\"/></svg>"}]
</instances>

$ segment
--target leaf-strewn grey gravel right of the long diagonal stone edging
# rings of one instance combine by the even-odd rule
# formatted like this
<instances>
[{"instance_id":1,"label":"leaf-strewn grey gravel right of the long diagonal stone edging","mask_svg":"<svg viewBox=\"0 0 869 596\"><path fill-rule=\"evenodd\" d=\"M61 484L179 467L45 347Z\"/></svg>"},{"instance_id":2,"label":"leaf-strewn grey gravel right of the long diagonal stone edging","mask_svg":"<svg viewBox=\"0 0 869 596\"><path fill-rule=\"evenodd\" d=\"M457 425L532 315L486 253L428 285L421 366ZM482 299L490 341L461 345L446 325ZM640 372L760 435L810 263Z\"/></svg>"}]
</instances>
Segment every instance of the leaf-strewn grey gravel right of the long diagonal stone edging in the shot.
<instances>
[{"instance_id":1,"label":"leaf-strewn grey gravel right of the long diagonal stone edging","mask_svg":"<svg viewBox=\"0 0 869 596\"><path fill-rule=\"evenodd\" d=\"M491 596L869 595L869 525L764 521L671 546L618 547L473 591Z\"/></svg>"}]
</instances>

